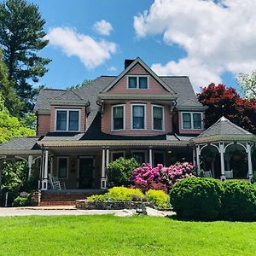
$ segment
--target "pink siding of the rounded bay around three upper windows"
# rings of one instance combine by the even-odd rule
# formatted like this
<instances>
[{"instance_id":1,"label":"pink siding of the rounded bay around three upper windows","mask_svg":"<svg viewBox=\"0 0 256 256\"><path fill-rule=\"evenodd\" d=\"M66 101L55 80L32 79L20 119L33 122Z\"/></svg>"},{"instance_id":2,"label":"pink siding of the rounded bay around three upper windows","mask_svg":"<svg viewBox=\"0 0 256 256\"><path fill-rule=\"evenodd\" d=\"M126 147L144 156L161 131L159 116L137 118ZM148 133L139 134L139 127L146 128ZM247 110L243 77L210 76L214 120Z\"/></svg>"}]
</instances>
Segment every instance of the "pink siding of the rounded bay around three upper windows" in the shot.
<instances>
[{"instance_id":1,"label":"pink siding of the rounded bay around three upper windows","mask_svg":"<svg viewBox=\"0 0 256 256\"><path fill-rule=\"evenodd\" d=\"M131 104L145 104L146 105L146 129L145 130L131 130ZM172 117L170 114L170 107L164 106L164 128L165 131L152 131L152 112L151 107L154 102L150 101L131 101L131 102L119 102L119 104L125 104L125 130L124 131L111 131L112 126L112 106L111 104L106 104L104 108L104 113L102 116L102 132L122 135L122 136L156 136L160 134L166 134L172 132ZM115 105L115 104L114 104ZM160 104L156 104L160 105Z\"/></svg>"}]
</instances>

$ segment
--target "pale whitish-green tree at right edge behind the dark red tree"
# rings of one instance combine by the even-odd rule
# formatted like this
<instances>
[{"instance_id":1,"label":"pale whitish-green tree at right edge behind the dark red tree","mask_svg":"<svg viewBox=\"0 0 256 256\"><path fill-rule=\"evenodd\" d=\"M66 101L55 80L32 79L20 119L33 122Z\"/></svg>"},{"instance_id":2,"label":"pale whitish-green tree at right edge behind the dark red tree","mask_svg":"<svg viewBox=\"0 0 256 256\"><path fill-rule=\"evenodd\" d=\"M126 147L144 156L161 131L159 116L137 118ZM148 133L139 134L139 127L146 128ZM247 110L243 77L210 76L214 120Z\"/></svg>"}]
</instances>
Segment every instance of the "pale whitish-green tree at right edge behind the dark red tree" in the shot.
<instances>
[{"instance_id":1,"label":"pale whitish-green tree at right edge behind the dark red tree","mask_svg":"<svg viewBox=\"0 0 256 256\"><path fill-rule=\"evenodd\" d=\"M256 71L251 74L239 74L237 82L241 85L241 89L247 99L256 99Z\"/></svg>"}]
</instances>

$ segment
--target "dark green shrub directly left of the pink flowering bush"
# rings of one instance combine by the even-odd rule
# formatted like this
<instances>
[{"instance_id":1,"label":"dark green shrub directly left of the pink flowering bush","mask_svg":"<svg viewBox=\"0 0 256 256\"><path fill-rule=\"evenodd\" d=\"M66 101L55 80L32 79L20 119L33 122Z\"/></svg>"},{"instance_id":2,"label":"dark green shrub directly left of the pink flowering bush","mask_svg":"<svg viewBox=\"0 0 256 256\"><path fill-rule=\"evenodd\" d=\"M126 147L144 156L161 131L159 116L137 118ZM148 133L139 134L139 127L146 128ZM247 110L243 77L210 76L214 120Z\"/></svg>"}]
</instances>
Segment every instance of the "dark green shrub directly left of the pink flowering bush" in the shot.
<instances>
[{"instance_id":1,"label":"dark green shrub directly left of the pink flowering bush","mask_svg":"<svg viewBox=\"0 0 256 256\"><path fill-rule=\"evenodd\" d=\"M108 185L113 186L128 186L131 184L131 173L134 168L139 166L134 158L125 159L120 157L108 165Z\"/></svg>"}]
</instances>

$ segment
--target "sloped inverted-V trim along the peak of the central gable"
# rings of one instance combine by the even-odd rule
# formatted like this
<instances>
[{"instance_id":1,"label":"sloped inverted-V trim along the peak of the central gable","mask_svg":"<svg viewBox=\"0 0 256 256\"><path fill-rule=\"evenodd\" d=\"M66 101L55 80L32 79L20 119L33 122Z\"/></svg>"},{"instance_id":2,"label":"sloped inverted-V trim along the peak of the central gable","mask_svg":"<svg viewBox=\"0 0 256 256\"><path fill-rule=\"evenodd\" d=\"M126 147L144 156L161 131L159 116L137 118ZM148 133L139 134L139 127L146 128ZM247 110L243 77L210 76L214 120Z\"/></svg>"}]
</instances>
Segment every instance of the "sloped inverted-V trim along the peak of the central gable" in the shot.
<instances>
[{"instance_id":1,"label":"sloped inverted-V trim along the peak of the central gable","mask_svg":"<svg viewBox=\"0 0 256 256\"><path fill-rule=\"evenodd\" d=\"M113 81L108 84L108 86L102 90L102 92L108 92L116 83L119 82L120 79L122 79L126 73L128 73L132 67L135 67L135 65L139 63L160 85L162 85L167 91L169 91L172 94L176 94L160 77L154 73L154 71L148 67L148 65L141 60L141 58L137 57L136 60L134 60L128 67L125 68L125 70L119 74L119 76L116 79L113 79Z\"/></svg>"}]
</instances>

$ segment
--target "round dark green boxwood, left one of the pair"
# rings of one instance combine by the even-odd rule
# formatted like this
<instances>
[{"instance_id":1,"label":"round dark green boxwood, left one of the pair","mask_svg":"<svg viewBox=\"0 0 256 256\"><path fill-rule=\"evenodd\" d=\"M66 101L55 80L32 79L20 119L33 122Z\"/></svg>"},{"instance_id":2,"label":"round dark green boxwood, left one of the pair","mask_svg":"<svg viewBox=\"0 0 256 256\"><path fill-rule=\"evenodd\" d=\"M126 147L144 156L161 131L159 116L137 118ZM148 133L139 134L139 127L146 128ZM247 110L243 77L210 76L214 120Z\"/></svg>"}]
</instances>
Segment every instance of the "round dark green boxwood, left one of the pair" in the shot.
<instances>
[{"instance_id":1,"label":"round dark green boxwood, left one of the pair","mask_svg":"<svg viewBox=\"0 0 256 256\"><path fill-rule=\"evenodd\" d=\"M170 202L180 218L212 220L218 218L222 193L216 179L188 177L174 184Z\"/></svg>"}]
</instances>

